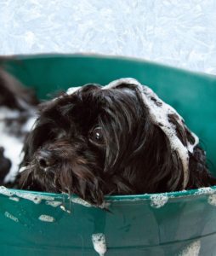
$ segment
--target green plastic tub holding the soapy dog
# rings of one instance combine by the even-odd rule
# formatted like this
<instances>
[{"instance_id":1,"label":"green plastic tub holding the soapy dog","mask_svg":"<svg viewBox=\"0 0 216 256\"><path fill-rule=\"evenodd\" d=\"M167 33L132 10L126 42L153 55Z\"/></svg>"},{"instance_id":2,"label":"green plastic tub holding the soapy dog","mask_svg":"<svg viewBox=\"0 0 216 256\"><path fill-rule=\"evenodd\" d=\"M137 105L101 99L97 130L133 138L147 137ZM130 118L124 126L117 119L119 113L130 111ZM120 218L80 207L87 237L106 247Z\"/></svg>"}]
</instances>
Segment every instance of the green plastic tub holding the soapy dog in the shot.
<instances>
[{"instance_id":1,"label":"green plastic tub holding the soapy dog","mask_svg":"<svg viewBox=\"0 0 216 256\"><path fill-rule=\"evenodd\" d=\"M97 55L30 55L8 70L44 99L54 90L125 77L151 86L185 118L216 172L216 77L149 61ZM0 189L0 255L216 255L216 188L110 196L110 212L76 196ZM63 204L63 205L62 205ZM102 235L101 235L102 236ZM101 241L102 242L102 241ZM103 250L102 250L103 251ZM103 252L99 251L101 255Z\"/></svg>"}]
</instances>

